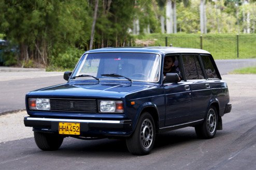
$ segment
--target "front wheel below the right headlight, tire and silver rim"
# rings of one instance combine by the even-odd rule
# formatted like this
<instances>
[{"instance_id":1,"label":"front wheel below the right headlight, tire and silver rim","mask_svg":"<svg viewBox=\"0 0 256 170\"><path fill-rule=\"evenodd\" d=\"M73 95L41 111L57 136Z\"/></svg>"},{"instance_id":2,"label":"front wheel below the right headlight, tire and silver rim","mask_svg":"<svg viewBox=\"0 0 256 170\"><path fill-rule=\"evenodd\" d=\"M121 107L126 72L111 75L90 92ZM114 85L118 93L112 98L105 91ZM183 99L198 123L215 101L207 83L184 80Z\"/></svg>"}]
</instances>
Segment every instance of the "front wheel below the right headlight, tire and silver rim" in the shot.
<instances>
[{"instance_id":1,"label":"front wheel below the right headlight, tire and silver rim","mask_svg":"<svg viewBox=\"0 0 256 170\"><path fill-rule=\"evenodd\" d=\"M148 154L154 145L155 125L148 112L140 115L135 131L126 138L126 146L132 154Z\"/></svg>"}]
</instances>

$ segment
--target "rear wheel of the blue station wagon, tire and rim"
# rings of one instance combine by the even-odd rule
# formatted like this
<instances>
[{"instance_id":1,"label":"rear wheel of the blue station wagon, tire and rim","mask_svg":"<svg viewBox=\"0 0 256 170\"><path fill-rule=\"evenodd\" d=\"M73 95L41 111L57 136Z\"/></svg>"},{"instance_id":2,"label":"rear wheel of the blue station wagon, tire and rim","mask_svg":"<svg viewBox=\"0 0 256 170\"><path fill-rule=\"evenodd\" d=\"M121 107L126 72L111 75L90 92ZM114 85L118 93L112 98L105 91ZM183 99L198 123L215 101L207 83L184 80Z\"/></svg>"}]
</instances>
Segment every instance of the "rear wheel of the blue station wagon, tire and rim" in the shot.
<instances>
[{"instance_id":1,"label":"rear wheel of the blue station wagon, tire and rim","mask_svg":"<svg viewBox=\"0 0 256 170\"><path fill-rule=\"evenodd\" d=\"M213 138L218 126L218 113L215 106L210 106L204 122L195 126L196 135L199 138Z\"/></svg>"}]
</instances>

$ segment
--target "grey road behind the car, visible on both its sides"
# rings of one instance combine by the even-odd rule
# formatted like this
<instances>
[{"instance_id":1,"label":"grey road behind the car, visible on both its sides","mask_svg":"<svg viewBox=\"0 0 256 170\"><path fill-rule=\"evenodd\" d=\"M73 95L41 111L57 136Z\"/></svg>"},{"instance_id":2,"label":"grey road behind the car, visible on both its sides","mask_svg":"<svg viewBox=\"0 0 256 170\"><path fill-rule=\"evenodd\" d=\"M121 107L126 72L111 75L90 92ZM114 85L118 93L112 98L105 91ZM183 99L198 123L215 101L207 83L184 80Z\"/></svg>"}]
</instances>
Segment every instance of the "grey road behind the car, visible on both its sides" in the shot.
<instances>
[{"instance_id":1,"label":"grey road behind the car, visible on both its sides","mask_svg":"<svg viewBox=\"0 0 256 170\"><path fill-rule=\"evenodd\" d=\"M255 66L256 59L216 60L216 64L221 75L224 75L237 68ZM24 110L27 92L65 82L63 73L0 72L0 115Z\"/></svg>"}]
</instances>

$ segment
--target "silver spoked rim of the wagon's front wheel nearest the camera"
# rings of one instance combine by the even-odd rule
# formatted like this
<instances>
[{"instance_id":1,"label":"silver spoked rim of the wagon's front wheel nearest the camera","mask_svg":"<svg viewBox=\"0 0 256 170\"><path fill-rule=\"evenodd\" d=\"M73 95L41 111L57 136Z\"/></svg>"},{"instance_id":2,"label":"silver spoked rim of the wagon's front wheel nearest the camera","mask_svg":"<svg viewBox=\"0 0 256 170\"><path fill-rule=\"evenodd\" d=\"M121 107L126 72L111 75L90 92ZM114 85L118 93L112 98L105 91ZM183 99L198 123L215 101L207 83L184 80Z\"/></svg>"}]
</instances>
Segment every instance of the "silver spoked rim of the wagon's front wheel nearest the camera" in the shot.
<instances>
[{"instance_id":1,"label":"silver spoked rim of the wagon's front wheel nearest the camera","mask_svg":"<svg viewBox=\"0 0 256 170\"><path fill-rule=\"evenodd\" d=\"M145 149L148 149L153 142L153 125L149 119L145 119L141 125L140 140Z\"/></svg>"}]
</instances>

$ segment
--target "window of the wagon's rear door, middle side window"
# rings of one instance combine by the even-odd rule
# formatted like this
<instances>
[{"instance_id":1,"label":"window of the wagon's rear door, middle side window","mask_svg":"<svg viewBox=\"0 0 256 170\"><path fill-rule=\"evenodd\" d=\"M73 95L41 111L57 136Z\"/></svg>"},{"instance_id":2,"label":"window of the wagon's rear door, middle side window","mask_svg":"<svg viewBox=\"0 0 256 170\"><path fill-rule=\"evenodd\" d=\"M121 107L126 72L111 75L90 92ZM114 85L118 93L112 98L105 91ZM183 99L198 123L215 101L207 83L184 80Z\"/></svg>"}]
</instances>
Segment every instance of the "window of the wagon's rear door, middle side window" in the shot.
<instances>
[{"instance_id":1,"label":"window of the wagon's rear door, middle side window","mask_svg":"<svg viewBox=\"0 0 256 170\"><path fill-rule=\"evenodd\" d=\"M204 79L204 74L197 56L198 55L182 55L184 73L187 80Z\"/></svg>"}]
</instances>

